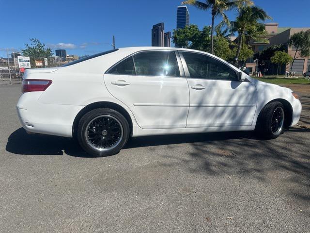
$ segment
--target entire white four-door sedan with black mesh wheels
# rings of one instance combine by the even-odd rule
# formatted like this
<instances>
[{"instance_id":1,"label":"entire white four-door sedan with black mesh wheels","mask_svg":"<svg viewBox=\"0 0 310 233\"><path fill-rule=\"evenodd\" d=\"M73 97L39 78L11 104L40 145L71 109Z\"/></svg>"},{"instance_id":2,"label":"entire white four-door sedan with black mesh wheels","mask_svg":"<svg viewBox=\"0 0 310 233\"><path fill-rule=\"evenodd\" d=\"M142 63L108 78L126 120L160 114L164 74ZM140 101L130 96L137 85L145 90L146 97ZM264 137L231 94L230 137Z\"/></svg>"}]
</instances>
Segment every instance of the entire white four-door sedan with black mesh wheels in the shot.
<instances>
[{"instance_id":1,"label":"entire white four-door sedan with black mesh wheels","mask_svg":"<svg viewBox=\"0 0 310 233\"><path fill-rule=\"evenodd\" d=\"M129 136L256 131L276 138L295 125L298 96L197 50L109 50L62 67L28 69L17 113L28 132L77 137L93 156Z\"/></svg>"}]
</instances>

